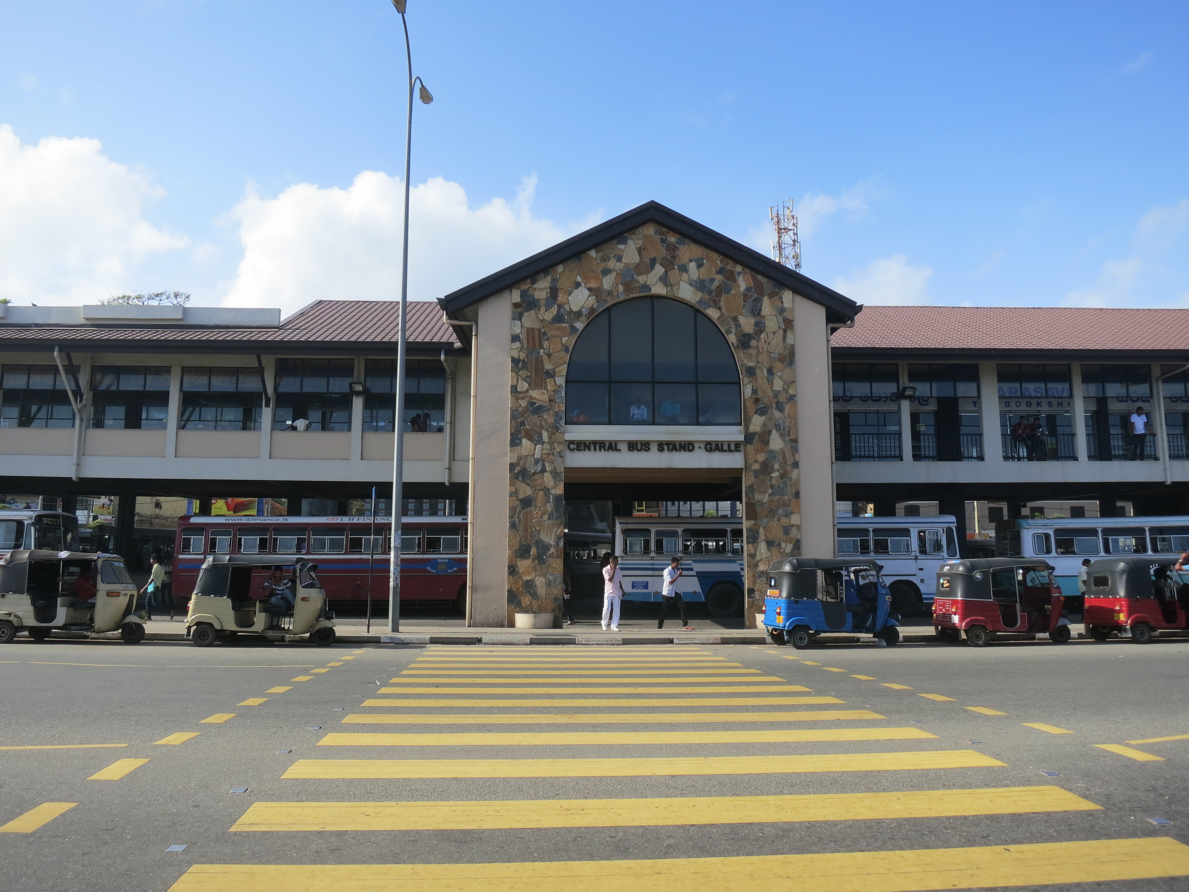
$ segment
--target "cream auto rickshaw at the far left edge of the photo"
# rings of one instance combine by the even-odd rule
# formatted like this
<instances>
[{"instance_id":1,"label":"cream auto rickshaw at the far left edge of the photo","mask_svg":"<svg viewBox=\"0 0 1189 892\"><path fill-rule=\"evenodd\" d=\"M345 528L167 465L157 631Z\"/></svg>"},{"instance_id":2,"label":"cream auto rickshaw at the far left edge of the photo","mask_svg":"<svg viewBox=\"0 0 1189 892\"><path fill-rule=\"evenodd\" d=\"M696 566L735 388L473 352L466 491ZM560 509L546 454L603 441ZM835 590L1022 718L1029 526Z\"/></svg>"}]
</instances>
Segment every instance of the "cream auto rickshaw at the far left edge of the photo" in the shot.
<instances>
[{"instance_id":1,"label":"cream auto rickshaw at the far left edge of the photo","mask_svg":"<svg viewBox=\"0 0 1189 892\"><path fill-rule=\"evenodd\" d=\"M21 548L0 559L0 643L19 632L44 641L54 629L119 629L136 645L145 636L136 603L136 583L119 554Z\"/></svg>"}]
</instances>

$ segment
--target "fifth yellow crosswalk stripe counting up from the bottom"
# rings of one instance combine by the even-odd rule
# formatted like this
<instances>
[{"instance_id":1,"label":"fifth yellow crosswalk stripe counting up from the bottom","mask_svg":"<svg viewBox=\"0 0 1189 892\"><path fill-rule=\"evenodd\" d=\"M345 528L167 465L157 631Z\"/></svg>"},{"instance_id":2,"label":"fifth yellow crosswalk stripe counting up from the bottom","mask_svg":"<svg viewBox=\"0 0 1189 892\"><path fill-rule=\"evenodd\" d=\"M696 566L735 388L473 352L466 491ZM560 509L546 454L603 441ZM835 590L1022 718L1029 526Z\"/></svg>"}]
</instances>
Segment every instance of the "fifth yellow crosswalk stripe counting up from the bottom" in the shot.
<instances>
[{"instance_id":1,"label":"fifth yellow crosswalk stripe counting up from the bottom","mask_svg":"<svg viewBox=\"0 0 1189 892\"><path fill-rule=\"evenodd\" d=\"M364 705L367 705L366 703ZM820 709L800 712L528 712L509 715L392 715L352 712L342 724L647 724L696 722L826 722L886 718L869 709Z\"/></svg>"}]
</instances>

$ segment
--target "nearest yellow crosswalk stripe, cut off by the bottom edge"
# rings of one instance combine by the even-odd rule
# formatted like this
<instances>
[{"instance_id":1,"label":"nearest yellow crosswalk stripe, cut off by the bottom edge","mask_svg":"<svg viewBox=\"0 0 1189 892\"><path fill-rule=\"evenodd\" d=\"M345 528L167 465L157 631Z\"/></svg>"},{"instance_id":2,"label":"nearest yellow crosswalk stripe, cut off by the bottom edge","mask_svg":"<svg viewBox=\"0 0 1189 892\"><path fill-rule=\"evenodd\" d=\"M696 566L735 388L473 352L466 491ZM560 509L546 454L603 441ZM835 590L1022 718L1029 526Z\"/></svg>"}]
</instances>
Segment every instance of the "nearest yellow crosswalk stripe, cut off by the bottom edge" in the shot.
<instances>
[{"instance_id":1,"label":"nearest yellow crosswalk stripe, cut off by the bottom edge","mask_svg":"<svg viewBox=\"0 0 1189 892\"><path fill-rule=\"evenodd\" d=\"M798 892L1043 886L1189 874L1189 846L1168 837L1037 842L813 855L530 861L484 865L193 865L170 892L365 892L377 888L468 892Z\"/></svg>"}]
</instances>

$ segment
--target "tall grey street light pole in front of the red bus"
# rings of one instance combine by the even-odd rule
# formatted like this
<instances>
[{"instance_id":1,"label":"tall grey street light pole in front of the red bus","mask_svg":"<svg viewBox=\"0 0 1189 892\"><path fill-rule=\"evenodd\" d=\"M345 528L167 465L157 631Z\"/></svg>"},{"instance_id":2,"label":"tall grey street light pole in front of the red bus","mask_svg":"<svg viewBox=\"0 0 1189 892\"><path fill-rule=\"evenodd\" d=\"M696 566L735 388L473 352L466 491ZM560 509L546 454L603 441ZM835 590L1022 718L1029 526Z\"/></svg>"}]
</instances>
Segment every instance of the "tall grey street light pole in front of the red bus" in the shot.
<instances>
[{"instance_id":1,"label":"tall grey street light pole in front of the red bus","mask_svg":"<svg viewBox=\"0 0 1189 892\"><path fill-rule=\"evenodd\" d=\"M404 227L401 245L401 319L400 341L396 351L396 407L392 413L392 432L396 441L392 444L392 536L389 549L388 583L388 628L389 632L401 630L401 489L404 478L404 363L408 348L405 339L407 310L409 304L409 159L413 152L413 88L421 83L421 101L429 105L434 101L426 83L413 76L413 50L409 48L409 23L404 18L407 0L392 0L392 6L401 13L401 25L404 27L404 56L409 63L409 117L404 126Z\"/></svg>"}]
</instances>

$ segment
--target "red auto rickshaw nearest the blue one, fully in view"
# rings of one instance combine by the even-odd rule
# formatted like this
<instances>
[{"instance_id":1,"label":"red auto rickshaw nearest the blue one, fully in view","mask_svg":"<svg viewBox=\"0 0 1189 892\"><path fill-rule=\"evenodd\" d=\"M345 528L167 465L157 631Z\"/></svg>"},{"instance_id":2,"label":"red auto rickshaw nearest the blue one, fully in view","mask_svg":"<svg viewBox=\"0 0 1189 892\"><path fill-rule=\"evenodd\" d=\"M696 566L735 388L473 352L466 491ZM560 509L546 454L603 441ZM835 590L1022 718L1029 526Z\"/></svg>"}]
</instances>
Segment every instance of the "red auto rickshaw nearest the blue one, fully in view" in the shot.
<instances>
[{"instance_id":1,"label":"red auto rickshaw nearest the blue one, fully in view","mask_svg":"<svg viewBox=\"0 0 1189 892\"><path fill-rule=\"evenodd\" d=\"M1053 566L1039 558L952 560L937 569L933 632L956 645L983 647L993 640L1034 641L1038 634L1063 645L1071 637Z\"/></svg>"}]
</instances>

